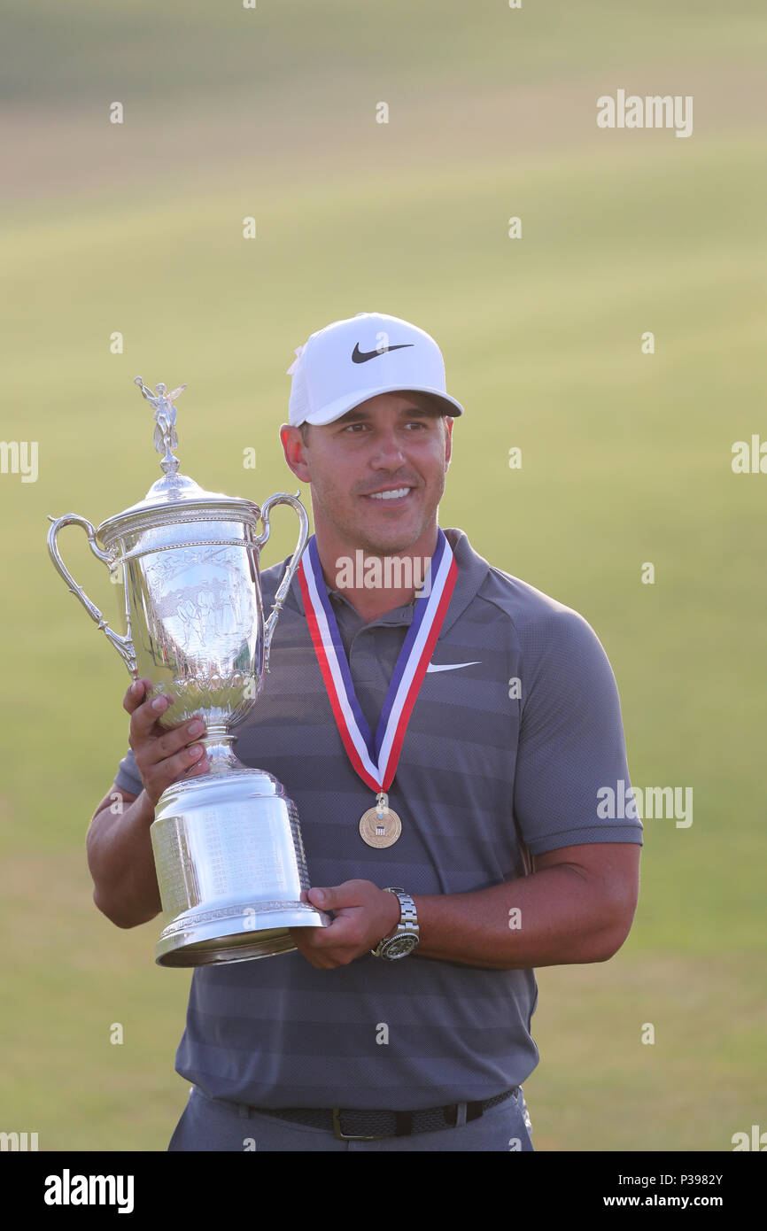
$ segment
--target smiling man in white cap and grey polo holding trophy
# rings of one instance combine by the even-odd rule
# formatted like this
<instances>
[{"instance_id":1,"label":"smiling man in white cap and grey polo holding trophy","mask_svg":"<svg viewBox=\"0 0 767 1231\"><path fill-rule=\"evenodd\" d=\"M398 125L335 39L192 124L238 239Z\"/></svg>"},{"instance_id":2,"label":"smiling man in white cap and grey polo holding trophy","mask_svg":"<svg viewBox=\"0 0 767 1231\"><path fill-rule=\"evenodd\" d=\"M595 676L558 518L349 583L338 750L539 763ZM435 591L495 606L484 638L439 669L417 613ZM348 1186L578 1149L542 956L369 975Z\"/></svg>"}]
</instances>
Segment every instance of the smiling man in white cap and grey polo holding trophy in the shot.
<instances>
[{"instance_id":1,"label":"smiling man in white cap and grey polo holding trophy","mask_svg":"<svg viewBox=\"0 0 767 1231\"><path fill-rule=\"evenodd\" d=\"M362 313L297 356L281 439L314 538L238 755L294 799L331 923L195 970L170 1149L532 1150L533 968L607 960L636 905L641 825L597 811L629 782L614 677L582 617L440 528L463 407L433 339ZM147 683L89 832L121 927L160 910L159 795L204 772L199 729L164 732Z\"/></svg>"}]
</instances>

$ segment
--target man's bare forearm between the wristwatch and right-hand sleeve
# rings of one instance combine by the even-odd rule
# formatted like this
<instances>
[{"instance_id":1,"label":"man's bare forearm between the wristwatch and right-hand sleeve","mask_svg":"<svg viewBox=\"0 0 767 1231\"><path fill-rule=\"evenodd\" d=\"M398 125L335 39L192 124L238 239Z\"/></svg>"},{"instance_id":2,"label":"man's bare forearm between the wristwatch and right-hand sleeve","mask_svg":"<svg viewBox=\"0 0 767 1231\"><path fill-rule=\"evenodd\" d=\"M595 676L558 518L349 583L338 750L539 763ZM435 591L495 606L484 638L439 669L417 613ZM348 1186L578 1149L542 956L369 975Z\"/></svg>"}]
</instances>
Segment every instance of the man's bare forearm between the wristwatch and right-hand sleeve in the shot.
<instances>
[{"instance_id":1,"label":"man's bare forearm between the wristwatch and right-hand sleeve","mask_svg":"<svg viewBox=\"0 0 767 1231\"><path fill-rule=\"evenodd\" d=\"M633 917L566 865L473 894L414 895L414 902L416 955L491 970L606 961Z\"/></svg>"}]
</instances>

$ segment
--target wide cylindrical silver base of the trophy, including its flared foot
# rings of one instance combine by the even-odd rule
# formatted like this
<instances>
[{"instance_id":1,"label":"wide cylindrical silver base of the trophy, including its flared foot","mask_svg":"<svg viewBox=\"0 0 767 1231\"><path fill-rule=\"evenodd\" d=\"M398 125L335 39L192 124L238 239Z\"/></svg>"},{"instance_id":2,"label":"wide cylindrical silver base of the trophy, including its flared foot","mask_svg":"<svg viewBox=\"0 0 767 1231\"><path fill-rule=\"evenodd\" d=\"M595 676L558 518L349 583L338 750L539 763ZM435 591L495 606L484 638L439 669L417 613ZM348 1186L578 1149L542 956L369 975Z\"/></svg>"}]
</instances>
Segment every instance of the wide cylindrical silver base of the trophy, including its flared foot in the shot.
<instances>
[{"instance_id":1,"label":"wide cylindrical silver base of the trophy, including its flared foot","mask_svg":"<svg viewBox=\"0 0 767 1231\"><path fill-rule=\"evenodd\" d=\"M159 966L207 966L291 953L289 928L327 927L303 901L309 874L298 812L262 769L174 783L150 827L166 926Z\"/></svg>"}]
</instances>

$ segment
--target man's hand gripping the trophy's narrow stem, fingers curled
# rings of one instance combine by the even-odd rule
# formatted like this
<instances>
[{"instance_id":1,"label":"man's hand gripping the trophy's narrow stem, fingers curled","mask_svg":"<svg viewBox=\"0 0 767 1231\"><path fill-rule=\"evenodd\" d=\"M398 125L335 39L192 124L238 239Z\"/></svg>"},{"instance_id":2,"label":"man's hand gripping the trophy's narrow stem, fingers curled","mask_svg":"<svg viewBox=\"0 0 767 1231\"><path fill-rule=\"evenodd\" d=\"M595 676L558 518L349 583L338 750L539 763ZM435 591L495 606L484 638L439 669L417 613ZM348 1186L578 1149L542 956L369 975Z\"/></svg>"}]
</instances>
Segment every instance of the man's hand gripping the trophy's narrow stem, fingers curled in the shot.
<instances>
[{"instance_id":1,"label":"man's hand gripping the trophy's narrow stem, fingers curled","mask_svg":"<svg viewBox=\"0 0 767 1231\"><path fill-rule=\"evenodd\" d=\"M128 744L153 808L171 783L196 778L209 768L204 746L195 742L206 731L198 715L180 726L160 726L158 720L171 704L171 697L151 696L150 680L137 680L123 698L123 709L131 714Z\"/></svg>"}]
</instances>

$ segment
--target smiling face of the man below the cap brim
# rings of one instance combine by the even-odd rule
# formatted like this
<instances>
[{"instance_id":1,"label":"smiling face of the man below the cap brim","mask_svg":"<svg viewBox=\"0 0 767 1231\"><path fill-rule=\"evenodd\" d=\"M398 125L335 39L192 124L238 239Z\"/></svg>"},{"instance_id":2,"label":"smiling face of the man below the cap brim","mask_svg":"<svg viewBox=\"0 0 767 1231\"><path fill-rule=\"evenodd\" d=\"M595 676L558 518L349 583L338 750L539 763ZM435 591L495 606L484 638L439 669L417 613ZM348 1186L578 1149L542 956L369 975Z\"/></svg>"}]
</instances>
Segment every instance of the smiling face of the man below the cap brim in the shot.
<instances>
[{"instance_id":1,"label":"smiling face of the man below the cap brim","mask_svg":"<svg viewBox=\"0 0 767 1231\"><path fill-rule=\"evenodd\" d=\"M388 393L310 426L305 443L297 427L279 435L288 465L311 484L318 534L385 555L411 549L436 524L452 430L426 395Z\"/></svg>"}]
</instances>

